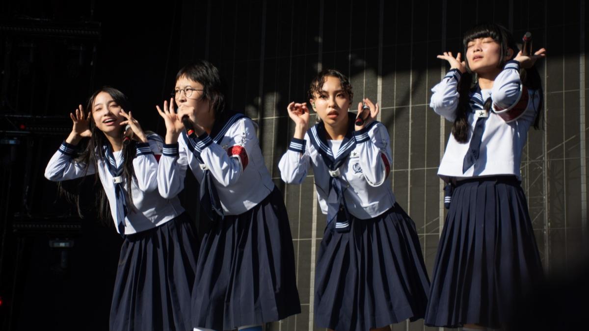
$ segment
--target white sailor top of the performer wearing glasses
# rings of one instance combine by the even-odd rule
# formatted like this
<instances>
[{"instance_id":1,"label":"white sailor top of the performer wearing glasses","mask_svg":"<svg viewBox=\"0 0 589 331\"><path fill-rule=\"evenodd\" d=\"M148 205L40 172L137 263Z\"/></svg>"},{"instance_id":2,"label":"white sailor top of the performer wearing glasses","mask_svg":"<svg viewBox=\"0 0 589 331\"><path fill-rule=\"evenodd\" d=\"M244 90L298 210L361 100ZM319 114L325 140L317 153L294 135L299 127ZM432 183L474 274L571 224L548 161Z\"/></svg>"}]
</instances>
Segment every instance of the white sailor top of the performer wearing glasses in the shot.
<instances>
[{"instance_id":1,"label":"white sailor top of the performer wearing glasses","mask_svg":"<svg viewBox=\"0 0 589 331\"><path fill-rule=\"evenodd\" d=\"M235 114L227 121L216 121L210 136L183 133L178 143L164 144L157 174L161 196L180 193L190 167L199 183L203 171L210 171L225 215L245 213L262 202L274 189L274 183L256 129L250 118Z\"/></svg>"}]
</instances>

